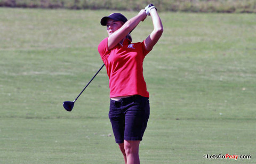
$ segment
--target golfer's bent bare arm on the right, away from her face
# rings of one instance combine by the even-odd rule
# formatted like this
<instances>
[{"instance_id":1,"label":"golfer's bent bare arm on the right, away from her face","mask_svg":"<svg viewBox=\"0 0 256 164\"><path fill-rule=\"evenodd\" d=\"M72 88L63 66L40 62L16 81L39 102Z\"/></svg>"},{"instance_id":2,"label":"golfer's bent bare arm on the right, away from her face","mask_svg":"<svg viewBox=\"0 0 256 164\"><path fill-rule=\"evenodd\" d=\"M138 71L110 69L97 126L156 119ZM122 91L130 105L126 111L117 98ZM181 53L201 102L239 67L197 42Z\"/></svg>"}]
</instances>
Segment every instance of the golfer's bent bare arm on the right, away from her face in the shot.
<instances>
[{"instance_id":1,"label":"golfer's bent bare arm on the right, away from her face","mask_svg":"<svg viewBox=\"0 0 256 164\"><path fill-rule=\"evenodd\" d=\"M151 9L150 15L153 21L154 30L145 40L145 47L147 51L151 51L153 49L154 45L158 42L164 31L162 21L156 9Z\"/></svg>"}]
</instances>

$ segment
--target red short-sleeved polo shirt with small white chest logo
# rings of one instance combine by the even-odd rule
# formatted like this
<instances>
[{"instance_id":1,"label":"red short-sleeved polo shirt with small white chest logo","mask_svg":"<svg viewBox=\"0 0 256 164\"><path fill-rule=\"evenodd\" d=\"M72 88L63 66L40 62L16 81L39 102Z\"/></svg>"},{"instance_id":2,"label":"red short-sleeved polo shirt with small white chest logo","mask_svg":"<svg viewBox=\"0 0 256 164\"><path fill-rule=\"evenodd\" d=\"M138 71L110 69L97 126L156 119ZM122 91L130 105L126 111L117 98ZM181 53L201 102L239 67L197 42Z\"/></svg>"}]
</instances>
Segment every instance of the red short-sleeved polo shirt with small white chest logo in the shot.
<instances>
[{"instance_id":1,"label":"red short-sleeved polo shirt with small white chest logo","mask_svg":"<svg viewBox=\"0 0 256 164\"><path fill-rule=\"evenodd\" d=\"M123 45L117 44L111 50L108 50L108 38L100 42L98 51L106 65L110 98L137 94L149 97L143 77L142 63L149 53L144 42L131 43L125 39Z\"/></svg>"}]
</instances>

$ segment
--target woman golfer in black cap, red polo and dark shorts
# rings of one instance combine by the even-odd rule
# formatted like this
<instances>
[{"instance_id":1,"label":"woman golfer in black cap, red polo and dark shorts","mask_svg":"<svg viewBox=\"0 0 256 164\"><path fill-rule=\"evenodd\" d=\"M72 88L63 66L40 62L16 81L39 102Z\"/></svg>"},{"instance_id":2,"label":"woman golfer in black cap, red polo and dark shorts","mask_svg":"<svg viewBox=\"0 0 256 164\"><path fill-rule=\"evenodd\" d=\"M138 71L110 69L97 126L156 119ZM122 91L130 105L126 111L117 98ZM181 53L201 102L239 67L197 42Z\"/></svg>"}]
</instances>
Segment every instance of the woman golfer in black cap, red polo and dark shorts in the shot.
<instances>
[{"instance_id":1,"label":"woman golfer in black cap, red polo and dark shorts","mask_svg":"<svg viewBox=\"0 0 256 164\"><path fill-rule=\"evenodd\" d=\"M150 15L154 30L140 43L131 43L130 32ZM139 144L149 118L149 93L143 77L142 63L163 33L156 7L148 5L138 15L127 20L112 13L100 21L107 27L108 37L98 51L106 65L110 88L109 119L116 143L125 163L140 163Z\"/></svg>"}]
</instances>

